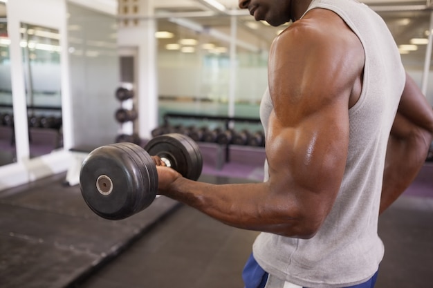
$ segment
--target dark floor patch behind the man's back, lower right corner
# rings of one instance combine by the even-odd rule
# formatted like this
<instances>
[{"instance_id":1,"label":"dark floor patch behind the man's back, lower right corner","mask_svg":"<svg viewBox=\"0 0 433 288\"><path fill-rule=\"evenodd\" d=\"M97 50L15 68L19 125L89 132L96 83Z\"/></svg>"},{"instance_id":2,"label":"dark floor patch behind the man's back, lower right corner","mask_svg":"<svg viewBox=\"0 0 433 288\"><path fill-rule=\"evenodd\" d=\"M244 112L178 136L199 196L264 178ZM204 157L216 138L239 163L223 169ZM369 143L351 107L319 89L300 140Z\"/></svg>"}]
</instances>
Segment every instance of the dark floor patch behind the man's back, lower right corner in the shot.
<instances>
[{"instance_id":1,"label":"dark floor patch behind the man's back, lower right corner","mask_svg":"<svg viewBox=\"0 0 433 288\"><path fill-rule=\"evenodd\" d=\"M385 259L376 288L433 287L433 198L401 196L380 216L379 235Z\"/></svg>"}]
</instances>

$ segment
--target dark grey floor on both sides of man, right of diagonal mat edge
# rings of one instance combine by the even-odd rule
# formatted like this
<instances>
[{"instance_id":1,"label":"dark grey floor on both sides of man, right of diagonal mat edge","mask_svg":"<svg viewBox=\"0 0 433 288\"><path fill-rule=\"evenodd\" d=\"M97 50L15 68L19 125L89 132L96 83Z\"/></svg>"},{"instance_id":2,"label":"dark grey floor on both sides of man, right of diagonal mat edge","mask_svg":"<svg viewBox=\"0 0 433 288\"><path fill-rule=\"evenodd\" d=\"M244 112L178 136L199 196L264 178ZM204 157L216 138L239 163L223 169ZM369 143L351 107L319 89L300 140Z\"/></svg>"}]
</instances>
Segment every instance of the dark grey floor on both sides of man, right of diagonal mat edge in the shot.
<instances>
[{"instance_id":1,"label":"dark grey floor on both sides of man, right of diagonal mat edge","mask_svg":"<svg viewBox=\"0 0 433 288\"><path fill-rule=\"evenodd\" d=\"M433 199L402 196L380 218L385 259L376 288L433 287ZM80 288L241 288L257 233L182 207Z\"/></svg>"}]
</instances>

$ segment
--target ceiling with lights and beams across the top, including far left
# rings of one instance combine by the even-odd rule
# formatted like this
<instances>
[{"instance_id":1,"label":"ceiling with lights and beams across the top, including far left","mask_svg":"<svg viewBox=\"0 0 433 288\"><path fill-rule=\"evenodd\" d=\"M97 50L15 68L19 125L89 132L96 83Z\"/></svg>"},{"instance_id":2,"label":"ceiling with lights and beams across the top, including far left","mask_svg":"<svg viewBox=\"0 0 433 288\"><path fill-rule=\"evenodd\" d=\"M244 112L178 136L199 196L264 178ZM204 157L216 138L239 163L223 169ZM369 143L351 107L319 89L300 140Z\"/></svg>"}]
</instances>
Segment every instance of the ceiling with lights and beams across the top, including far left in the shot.
<instances>
[{"instance_id":1,"label":"ceiling with lights and beams across the top, including far left","mask_svg":"<svg viewBox=\"0 0 433 288\"><path fill-rule=\"evenodd\" d=\"M67 1L115 15L119 17L119 23L124 21L122 17L131 17L131 15L118 15L118 0ZM222 4L225 9L222 12L208 4L208 1L154 0L158 30L166 30L174 34L173 39L160 39L158 41L160 48L181 38L195 38L202 43L211 41L217 46L228 48L230 15L237 15L235 18L238 23L237 39L238 47L241 49L267 50L277 32L281 30L257 22L248 11L239 10L238 0L210 0ZM122 5L127 2L128 0L122 0L119 3ZM428 9L430 0L364 0L362 2L371 6L383 17L398 45L409 44L410 39L415 37L427 37L425 31L429 30L430 25L430 9ZM176 17L166 17L167 14ZM1 17L6 17L6 6L2 1L0 1ZM179 19L182 23L179 23ZM418 46L418 50L409 52L408 55L403 55L403 59L409 65L423 64L424 58L425 45Z\"/></svg>"}]
</instances>

